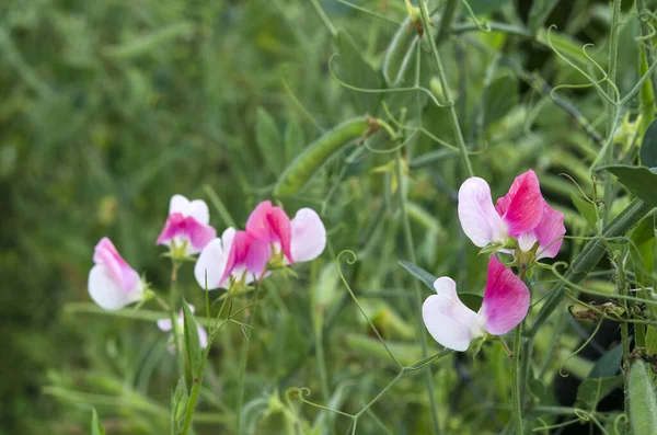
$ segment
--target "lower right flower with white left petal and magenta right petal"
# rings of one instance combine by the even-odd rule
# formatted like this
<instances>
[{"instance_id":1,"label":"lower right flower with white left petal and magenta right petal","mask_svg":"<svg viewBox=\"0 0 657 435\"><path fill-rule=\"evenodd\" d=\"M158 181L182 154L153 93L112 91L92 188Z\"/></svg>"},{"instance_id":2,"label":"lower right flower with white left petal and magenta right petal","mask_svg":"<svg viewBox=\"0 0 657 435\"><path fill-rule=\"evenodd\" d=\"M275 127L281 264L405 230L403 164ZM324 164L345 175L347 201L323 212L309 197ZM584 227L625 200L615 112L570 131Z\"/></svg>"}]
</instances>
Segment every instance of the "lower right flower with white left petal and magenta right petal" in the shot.
<instances>
[{"instance_id":1,"label":"lower right flower with white left petal and magenta right petal","mask_svg":"<svg viewBox=\"0 0 657 435\"><path fill-rule=\"evenodd\" d=\"M447 348L464 352L474 339L487 332L506 334L516 328L529 310L529 290L525 283L505 267L495 255L488 263L484 300L479 312L459 299L456 283L442 276L434 283L437 295L429 296L422 317L429 334Z\"/></svg>"}]
</instances>

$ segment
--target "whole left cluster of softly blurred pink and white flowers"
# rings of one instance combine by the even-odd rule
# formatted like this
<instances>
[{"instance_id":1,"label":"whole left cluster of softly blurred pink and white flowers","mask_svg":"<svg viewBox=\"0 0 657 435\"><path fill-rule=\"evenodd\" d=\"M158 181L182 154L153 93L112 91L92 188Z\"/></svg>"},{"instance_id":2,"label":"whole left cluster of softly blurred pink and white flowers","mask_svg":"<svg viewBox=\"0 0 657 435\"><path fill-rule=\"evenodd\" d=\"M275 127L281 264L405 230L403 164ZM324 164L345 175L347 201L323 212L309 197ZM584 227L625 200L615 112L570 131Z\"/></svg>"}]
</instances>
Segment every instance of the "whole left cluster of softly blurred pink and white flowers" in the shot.
<instances>
[{"instance_id":1,"label":"whole left cluster of softly blurred pink and white flowers","mask_svg":"<svg viewBox=\"0 0 657 435\"><path fill-rule=\"evenodd\" d=\"M208 205L174 195L169 217L157 244L170 248L174 261L199 254L194 276L201 288L244 286L268 276L273 271L319 256L326 245L326 229L320 216L301 208L290 219L269 201L255 207L244 230L228 228L217 238L209 226ZM153 296L145 279L120 256L108 238L103 238L93 254L95 265L89 273L89 294L105 310L117 310ZM177 330L170 319L158 321L162 331ZM207 341L199 330L201 344ZM205 337L205 339L204 339ZM204 344L205 346L205 344Z\"/></svg>"}]
</instances>

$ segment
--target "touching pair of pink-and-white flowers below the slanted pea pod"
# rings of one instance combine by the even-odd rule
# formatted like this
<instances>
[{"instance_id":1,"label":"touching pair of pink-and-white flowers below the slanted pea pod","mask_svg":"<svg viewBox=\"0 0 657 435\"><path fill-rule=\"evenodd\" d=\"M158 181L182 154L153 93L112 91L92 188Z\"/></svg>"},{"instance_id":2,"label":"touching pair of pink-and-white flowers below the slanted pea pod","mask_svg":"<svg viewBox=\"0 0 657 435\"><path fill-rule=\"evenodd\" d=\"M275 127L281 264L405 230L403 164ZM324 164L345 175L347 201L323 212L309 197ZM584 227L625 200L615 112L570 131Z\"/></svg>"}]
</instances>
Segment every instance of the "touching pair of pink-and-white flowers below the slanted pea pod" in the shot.
<instances>
[{"instance_id":1,"label":"touching pair of pink-and-white flowers below the slanted pea pod","mask_svg":"<svg viewBox=\"0 0 657 435\"><path fill-rule=\"evenodd\" d=\"M304 262L319 256L326 247L326 229L320 216L301 208L293 219L280 207L261 203L246 221L246 231L227 229L203 250L194 274L205 288L229 288L230 279L257 279L273 255L283 255L285 264Z\"/></svg>"}]
</instances>

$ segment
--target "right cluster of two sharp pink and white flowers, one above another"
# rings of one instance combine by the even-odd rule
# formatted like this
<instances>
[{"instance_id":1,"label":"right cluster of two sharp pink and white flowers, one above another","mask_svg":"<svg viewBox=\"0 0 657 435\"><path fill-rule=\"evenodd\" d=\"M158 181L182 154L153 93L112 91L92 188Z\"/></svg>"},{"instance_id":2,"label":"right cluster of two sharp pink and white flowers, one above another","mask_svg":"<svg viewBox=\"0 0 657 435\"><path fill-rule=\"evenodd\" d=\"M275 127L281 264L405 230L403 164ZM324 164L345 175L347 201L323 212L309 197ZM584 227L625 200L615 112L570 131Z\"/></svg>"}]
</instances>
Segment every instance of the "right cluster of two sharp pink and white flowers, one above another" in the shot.
<instances>
[{"instance_id":1,"label":"right cluster of two sharp pink and white flowers, one above another","mask_svg":"<svg viewBox=\"0 0 657 435\"><path fill-rule=\"evenodd\" d=\"M459 190L459 220L476 247L493 252L482 307L476 313L465 307L454 282L440 277L434 283L437 295L424 302L423 319L438 343L463 352L486 333L511 331L529 310L529 289L495 252L511 254L515 265L528 271L538 260L558 253L566 229L564 215L548 205L532 170L517 176L495 205L488 183L475 176L465 180Z\"/></svg>"}]
</instances>

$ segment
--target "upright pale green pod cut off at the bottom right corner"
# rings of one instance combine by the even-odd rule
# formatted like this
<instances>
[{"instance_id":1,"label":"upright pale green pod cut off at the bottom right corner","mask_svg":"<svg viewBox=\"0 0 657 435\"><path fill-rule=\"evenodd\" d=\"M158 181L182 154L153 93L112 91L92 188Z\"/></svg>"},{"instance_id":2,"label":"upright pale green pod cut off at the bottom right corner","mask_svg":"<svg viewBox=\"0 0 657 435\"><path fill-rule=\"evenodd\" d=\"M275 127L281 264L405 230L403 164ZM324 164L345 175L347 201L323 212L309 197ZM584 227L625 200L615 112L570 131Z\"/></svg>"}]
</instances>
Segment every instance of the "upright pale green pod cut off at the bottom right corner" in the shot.
<instances>
[{"instance_id":1,"label":"upright pale green pod cut off at the bottom right corner","mask_svg":"<svg viewBox=\"0 0 657 435\"><path fill-rule=\"evenodd\" d=\"M630 369L630 423L635 435L657 434L657 398L648 365L637 359Z\"/></svg>"}]
</instances>

